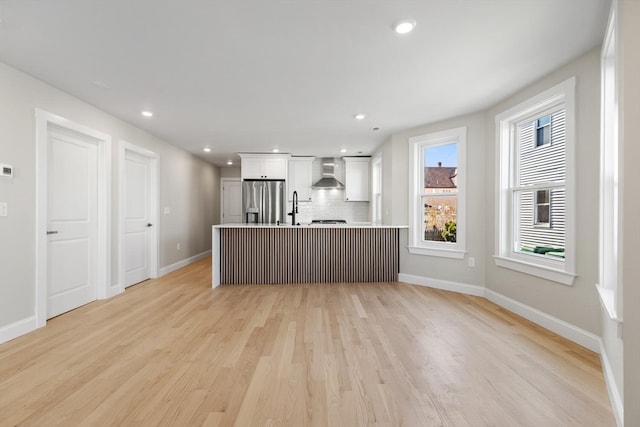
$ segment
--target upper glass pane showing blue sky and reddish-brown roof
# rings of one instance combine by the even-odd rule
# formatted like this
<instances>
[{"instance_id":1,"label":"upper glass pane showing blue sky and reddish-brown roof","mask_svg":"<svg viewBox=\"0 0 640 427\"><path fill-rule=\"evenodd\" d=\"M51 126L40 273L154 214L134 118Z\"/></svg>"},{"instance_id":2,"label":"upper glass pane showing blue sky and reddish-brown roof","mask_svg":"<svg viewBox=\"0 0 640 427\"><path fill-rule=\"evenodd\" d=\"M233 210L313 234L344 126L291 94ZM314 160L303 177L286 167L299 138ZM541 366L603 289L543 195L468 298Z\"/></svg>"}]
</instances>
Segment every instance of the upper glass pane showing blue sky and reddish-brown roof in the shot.
<instances>
[{"instance_id":1,"label":"upper glass pane showing blue sky and reddish-brown roof","mask_svg":"<svg viewBox=\"0 0 640 427\"><path fill-rule=\"evenodd\" d=\"M442 144L425 147L424 192L457 193L458 144Z\"/></svg>"}]
</instances>

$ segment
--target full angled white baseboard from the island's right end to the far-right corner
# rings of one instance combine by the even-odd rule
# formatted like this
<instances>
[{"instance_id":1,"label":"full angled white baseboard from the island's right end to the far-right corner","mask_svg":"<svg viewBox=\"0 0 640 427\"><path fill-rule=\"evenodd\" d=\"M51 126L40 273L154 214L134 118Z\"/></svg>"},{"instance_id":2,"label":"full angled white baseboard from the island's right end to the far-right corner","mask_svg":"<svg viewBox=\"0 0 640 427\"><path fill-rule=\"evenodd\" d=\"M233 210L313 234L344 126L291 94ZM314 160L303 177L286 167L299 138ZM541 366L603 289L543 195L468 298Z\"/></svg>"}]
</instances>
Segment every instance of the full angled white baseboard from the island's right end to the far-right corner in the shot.
<instances>
[{"instance_id":1,"label":"full angled white baseboard from the island's right end to the far-right corner","mask_svg":"<svg viewBox=\"0 0 640 427\"><path fill-rule=\"evenodd\" d=\"M445 291L485 297L489 301L498 304L500 307L522 316L545 329L555 332L556 334L580 344L591 351L600 353L600 338L597 335L485 287L450 282L447 280L431 279L428 277L413 276L405 273L400 273L398 275L398 281L410 283L412 285L427 286L435 289L443 289Z\"/></svg>"}]
</instances>

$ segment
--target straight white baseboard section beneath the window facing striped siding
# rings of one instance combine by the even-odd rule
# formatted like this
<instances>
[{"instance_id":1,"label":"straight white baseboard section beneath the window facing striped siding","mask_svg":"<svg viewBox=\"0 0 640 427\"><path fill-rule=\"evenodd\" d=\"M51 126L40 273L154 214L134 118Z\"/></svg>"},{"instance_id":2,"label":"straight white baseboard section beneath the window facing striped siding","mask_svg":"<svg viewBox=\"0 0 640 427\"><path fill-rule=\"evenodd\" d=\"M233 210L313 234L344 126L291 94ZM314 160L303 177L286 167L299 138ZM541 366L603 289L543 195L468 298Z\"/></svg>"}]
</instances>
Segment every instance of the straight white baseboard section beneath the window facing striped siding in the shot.
<instances>
[{"instance_id":1,"label":"straight white baseboard section beneath the window facing striped siding","mask_svg":"<svg viewBox=\"0 0 640 427\"><path fill-rule=\"evenodd\" d=\"M591 332L580 329L571 323L560 320L557 317L553 317L543 311L523 304L519 301L505 297L502 294L494 292L490 289L484 290L485 298L489 301L498 304L502 308L524 317L533 323L542 326L556 334L580 344L583 347L588 348L591 351L600 353L600 338Z\"/></svg>"}]
</instances>

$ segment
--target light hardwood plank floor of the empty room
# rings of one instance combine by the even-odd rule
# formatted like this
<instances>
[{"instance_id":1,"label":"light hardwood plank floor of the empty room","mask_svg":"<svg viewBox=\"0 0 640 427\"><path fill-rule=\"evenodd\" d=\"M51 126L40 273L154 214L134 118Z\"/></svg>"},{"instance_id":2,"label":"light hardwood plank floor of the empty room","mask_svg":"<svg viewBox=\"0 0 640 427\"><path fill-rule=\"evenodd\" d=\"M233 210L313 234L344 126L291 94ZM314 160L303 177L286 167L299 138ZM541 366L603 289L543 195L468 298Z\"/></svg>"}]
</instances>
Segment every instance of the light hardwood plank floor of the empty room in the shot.
<instances>
[{"instance_id":1,"label":"light hardwood plank floor of the empty room","mask_svg":"<svg viewBox=\"0 0 640 427\"><path fill-rule=\"evenodd\" d=\"M596 354L477 297L211 260L0 346L0 425L611 426Z\"/></svg>"}]
</instances>

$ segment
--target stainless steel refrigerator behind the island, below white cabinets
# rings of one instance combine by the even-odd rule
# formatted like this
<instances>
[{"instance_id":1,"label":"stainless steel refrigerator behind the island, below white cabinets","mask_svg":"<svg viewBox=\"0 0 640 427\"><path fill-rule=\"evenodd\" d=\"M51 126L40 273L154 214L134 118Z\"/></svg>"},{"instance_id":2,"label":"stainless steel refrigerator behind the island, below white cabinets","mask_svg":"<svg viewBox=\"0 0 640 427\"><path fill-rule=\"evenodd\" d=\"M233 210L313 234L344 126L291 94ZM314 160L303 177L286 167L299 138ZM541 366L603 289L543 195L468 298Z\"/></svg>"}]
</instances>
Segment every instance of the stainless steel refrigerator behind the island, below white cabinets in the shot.
<instances>
[{"instance_id":1,"label":"stainless steel refrigerator behind the island, below white cabinets","mask_svg":"<svg viewBox=\"0 0 640 427\"><path fill-rule=\"evenodd\" d=\"M242 181L242 222L285 223L287 198L284 180Z\"/></svg>"}]
</instances>

